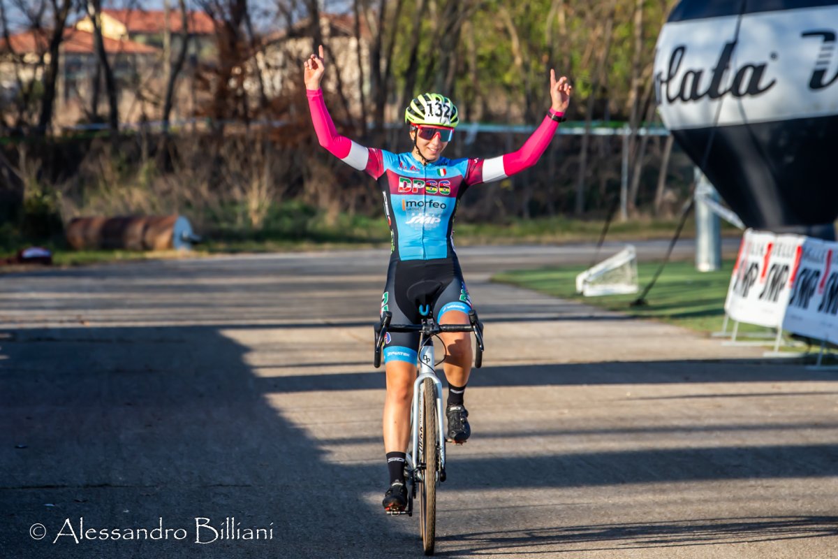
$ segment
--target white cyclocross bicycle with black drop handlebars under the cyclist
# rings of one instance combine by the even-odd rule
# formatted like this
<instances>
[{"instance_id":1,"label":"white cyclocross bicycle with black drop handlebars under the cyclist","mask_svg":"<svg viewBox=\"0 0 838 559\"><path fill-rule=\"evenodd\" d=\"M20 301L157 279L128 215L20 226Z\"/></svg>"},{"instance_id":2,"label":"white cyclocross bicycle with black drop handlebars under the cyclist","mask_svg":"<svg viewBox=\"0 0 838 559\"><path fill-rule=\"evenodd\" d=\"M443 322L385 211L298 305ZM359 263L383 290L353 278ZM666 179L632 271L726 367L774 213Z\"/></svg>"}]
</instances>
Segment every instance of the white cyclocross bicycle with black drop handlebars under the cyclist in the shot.
<instances>
[{"instance_id":1,"label":"white cyclocross bicycle with black drop handlebars under the cyclist","mask_svg":"<svg viewBox=\"0 0 838 559\"><path fill-rule=\"evenodd\" d=\"M473 332L477 339L474 367L483 364L483 323L469 311L468 324L437 324L433 317L421 324L391 324L393 314L385 311L375 325L375 359L381 365L381 348L387 332L419 332L419 369L413 383L411 404L411 448L405 459L407 507L391 515L413 515L413 499L419 494L419 534L425 555L433 554L437 526L437 484L445 481L445 432L442 425L442 382L436 372L433 339L442 332ZM444 359L443 359L444 360Z\"/></svg>"}]
</instances>

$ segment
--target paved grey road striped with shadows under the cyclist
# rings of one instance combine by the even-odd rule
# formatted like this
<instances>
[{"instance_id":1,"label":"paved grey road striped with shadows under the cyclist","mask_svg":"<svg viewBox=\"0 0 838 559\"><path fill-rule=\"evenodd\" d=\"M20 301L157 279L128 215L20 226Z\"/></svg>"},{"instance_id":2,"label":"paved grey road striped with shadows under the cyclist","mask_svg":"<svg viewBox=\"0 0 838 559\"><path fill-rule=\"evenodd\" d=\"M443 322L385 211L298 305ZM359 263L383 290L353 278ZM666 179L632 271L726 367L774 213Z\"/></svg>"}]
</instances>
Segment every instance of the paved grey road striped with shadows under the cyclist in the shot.
<instances>
[{"instance_id":1,"label":"paved grey road striped with shadows under the cyclist","mask_svg":"<svg viewBox=\"0 0 838 559\"><path fill-rule=\"evenodd\" d=\"M437 555L838 557L838 374L487 281L590 246L460 252L488 351ZM380 510L385 267L0 276L0 557L421 556Z\"/></svg>"}]
</instances>

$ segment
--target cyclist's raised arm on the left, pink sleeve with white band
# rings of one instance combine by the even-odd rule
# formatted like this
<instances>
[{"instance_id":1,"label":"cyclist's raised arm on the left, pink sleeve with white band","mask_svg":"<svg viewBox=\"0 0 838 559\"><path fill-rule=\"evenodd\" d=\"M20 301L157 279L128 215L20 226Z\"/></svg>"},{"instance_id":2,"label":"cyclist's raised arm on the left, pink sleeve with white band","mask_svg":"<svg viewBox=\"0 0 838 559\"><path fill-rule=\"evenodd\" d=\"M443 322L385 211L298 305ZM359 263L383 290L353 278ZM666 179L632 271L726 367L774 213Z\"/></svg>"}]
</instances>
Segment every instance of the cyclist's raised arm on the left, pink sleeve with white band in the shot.
<instances>
[{"instance_id":1,"label":"cyclist's raised arm on the left, pink sleeve with white band","mask_svg":"<svg viewBox=\"0 0 838 559\"><path fill-rule=\"evenodd\" d=\"M312 123L318 142L334 157L359 171L366 171L378 178L381 174L380 152L367 149L348 137L340 135L334 127L332 116L328 114L326 102L323 101L323 90L320 89L320 81L323 80L323 74L326 71L322 44L318 49L318 54L312 54L305 61L304 67L303 80L306 84L308 110L312 114Z\"/></svg>"}]
</instances>

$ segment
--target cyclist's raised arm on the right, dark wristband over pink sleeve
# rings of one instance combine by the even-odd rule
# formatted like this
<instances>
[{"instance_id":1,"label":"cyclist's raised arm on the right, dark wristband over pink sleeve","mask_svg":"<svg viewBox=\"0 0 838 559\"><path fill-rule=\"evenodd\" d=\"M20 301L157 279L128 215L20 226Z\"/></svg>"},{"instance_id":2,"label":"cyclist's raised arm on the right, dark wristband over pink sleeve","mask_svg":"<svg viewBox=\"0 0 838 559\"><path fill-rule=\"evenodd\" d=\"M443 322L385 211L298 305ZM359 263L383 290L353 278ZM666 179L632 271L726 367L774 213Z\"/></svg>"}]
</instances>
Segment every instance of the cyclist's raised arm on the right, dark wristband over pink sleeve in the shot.
<instances>
[{"instance_id":1,"label":"cyclist's raised arm on the right, dark wristband over pink sleeve","mask_svg":"<svg viewBox=\"0 0 838 559\"><path fill-rule=\"evenodd\" d=\"M556 70L550 70L550 96L552 105L544 120L535 132L527 138L521 148L512 153L506 153L496 158L485 159L482 168L475 168L473 182L484 182L505 179L512 174L520 173L525 168L535 165L541 158L550 141L556 134L561 117L564 116L570 103L573 86L565 76L556 80ZM469 181L472 182L472 181Z\"/></svg>"}]
</instances>

